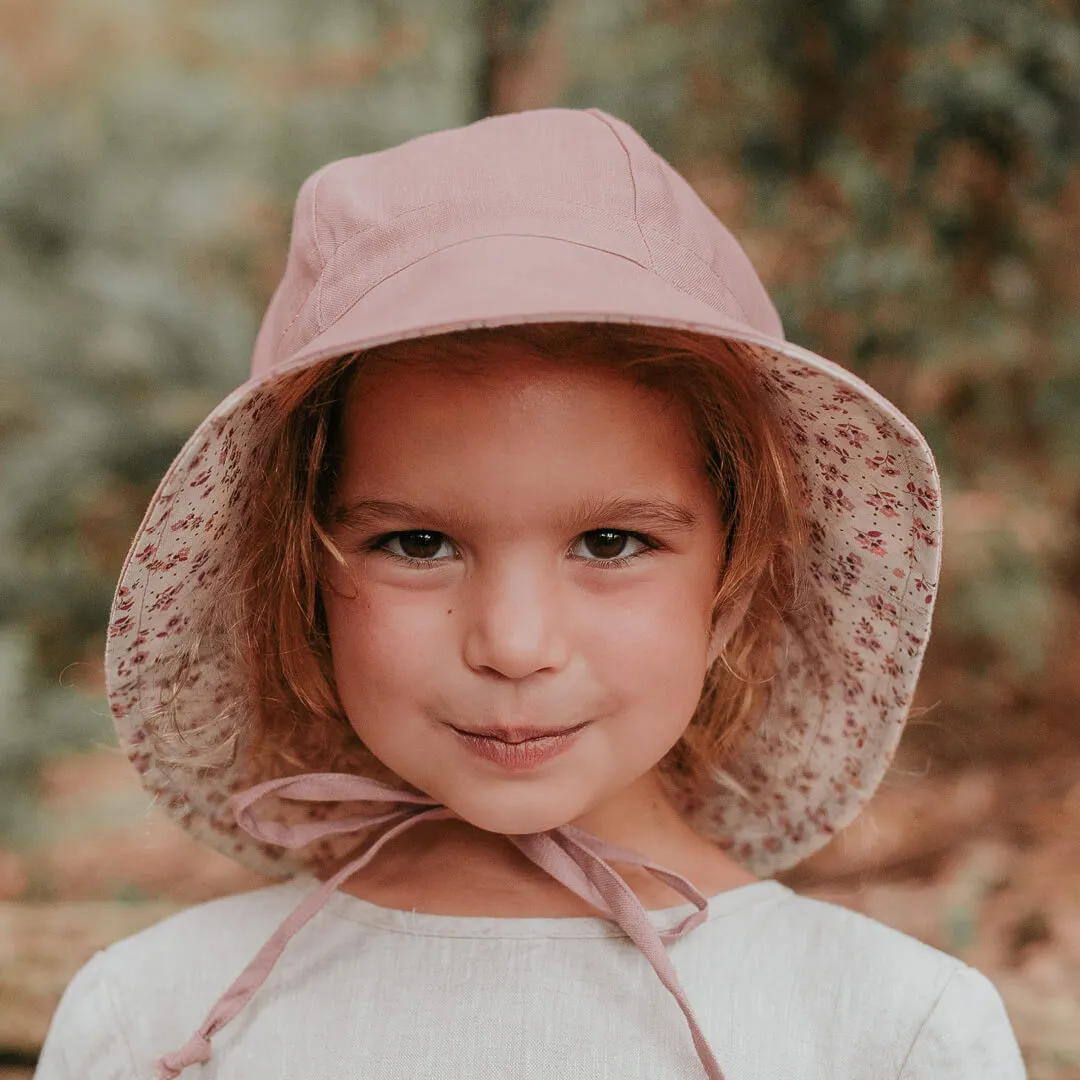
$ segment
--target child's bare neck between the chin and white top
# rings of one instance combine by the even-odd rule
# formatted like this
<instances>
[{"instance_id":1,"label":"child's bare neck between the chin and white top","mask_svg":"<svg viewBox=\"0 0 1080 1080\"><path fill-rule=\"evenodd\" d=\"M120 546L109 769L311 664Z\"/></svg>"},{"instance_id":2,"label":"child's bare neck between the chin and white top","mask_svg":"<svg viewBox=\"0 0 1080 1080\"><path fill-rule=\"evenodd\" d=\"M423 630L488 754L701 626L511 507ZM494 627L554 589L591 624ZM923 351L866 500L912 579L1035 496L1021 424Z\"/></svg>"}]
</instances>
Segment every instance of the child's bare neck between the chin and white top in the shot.
<instances>
[{"instance_id":1,"label":"child's bare neck between the chin and white top","mask_svg":"<svg viewBox=\"0 0 1080 1080\"><path fill-rule=\"evenodd\" d=\"M758 880L698 836L662 795L633 804L636 812L576 822L600 839L631 848L681 874L706 896ZM627 820L633 816L635 820ZM647 870L616 864L648 909L686 897ZM400 910L497 918L596 916L580 896L526 859L507 837L460 819L422 822L388 843L343 892Z\"/></svg>"}]
</instances>

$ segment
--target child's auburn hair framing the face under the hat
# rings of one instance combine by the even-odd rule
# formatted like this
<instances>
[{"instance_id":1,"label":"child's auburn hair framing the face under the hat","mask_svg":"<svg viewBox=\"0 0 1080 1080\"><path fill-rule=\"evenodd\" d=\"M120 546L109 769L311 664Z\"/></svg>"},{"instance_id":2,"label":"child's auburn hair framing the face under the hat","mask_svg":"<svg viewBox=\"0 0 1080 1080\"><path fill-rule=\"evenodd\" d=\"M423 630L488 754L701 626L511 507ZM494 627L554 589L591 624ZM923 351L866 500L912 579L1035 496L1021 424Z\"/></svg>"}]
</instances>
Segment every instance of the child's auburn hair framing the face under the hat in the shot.
<instances>
[{"instance_id":1,"label":"child's auburn hair framing the face under the hat","mask_svg":"<svg viewBox=\"0 0 1080 1080\"><path fill-rule=\"evenodd\" d=\"M437 361L433 357L437 355ZM349 724L334 685L321 599L346 393L357 372L408 363L490 364L500 355L609 365L685 403L702 464L727 527L713 619L723 640L693 716L659 762L684 812L717 784L741 791L729 766L762 715L785 625L799 603L807 523L800 477L765 389L753 346L688 330L617 323L534 323L460 330L380 346L283 377L268 391L268 433L248 475L258 477L245 541L230 553L219 603L193 627L177 692L162 705L175 739L163 759L213 767L214 750L243 747L251 783L333 768L401 786ZM200 644L201 643L201 644ZM205 647L227 650L241 673L234 701L195 754L183 730L179 688ZM160 731L161 729L159 729ZM164 734L162 732L162 734Z\"/></svg>"}]
</instances>

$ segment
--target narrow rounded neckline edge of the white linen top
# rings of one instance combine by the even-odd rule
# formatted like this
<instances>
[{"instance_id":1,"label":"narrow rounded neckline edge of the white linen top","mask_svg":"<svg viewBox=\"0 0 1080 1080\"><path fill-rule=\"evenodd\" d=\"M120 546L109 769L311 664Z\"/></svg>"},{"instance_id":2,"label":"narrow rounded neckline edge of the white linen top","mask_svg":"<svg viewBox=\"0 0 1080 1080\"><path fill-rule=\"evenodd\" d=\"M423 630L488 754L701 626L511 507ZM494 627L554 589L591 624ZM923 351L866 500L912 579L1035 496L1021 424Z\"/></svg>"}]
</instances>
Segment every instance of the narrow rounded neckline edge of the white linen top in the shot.
<instances>
[{"instance_id":1,"label":"narrow rounded neckline edge of the white linen top","mask_svg":"<svg viewBox=\"0 0 1080 1080\"><path fill-rule=\"evenodd\" d=\"M288 885L297 891L310 892L319 887L319 879L312 874L299 874ZM708 897L706 922L733 915L751 906L775 902L793 896L786 886L772 879L752 881L747 885L726 889ZM697 908L693 904L676 907L646 909L649 921L658 930L671 930ZM361 900L351 893L335 890L326 902L324 912L375 927L392 933L414 934L424 937L622 937L622 930L610 919L595 916L525 918L475 915L430 915L426 912L406 912L393 907L381 907L370 901Z\"/></svg>"}]
</instances>

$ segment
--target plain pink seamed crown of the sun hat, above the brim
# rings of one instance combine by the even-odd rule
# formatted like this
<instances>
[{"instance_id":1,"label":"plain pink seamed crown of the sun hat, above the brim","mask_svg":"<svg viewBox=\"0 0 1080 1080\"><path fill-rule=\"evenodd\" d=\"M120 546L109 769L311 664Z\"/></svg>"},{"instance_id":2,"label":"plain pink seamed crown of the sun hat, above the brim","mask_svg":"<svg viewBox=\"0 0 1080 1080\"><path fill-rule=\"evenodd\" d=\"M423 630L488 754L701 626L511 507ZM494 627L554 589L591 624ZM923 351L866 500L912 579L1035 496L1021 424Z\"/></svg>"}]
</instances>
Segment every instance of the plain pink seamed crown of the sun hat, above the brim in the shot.
<instances>
[{"instance_id":1,"label":"plain pink seamed crown of the sun hat, above the brim","mask_svg":"<svg viewBox=\"0 0 1080 1080\"><path fill-rule=\"evenodd\" d=\"M380 282L445 247L540 235L611 252L754 330L783 328L689 184L600 109L535 109L325 165L302 185L252 374L288 364Z\"/></svg>"}]
</instances>

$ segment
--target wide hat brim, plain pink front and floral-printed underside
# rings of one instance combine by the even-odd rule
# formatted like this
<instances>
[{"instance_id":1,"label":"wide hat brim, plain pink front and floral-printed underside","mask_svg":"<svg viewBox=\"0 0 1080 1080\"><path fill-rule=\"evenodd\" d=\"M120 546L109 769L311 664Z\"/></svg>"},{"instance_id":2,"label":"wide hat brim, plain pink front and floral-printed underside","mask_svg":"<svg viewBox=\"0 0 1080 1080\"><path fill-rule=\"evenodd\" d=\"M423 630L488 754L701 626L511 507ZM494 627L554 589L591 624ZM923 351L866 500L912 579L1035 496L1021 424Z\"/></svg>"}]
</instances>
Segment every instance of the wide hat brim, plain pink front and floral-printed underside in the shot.
<instances>
[{"instance_id":1,"label":"wide hat brim, plain pink front and floral-printed underside","mask_svg":"<svg viewBox=\"0 0 1080 1080\"><path fill-rule=\"evenodd\" d=\"M419 296L422 320L410 303ZM227 799L258 779L242 759L213 770L166 767L148 728L167 689L161 663L215 603L224 555L241 542L254 482L247 463L271 383L405 338L519 323L633 323L754 346L809 494L806 600L769 711L729 770L745 794L717 783L692 824L759 876L821 848L878 786L906 723L940 566L939 480L926 441L886 399L739 316L737 302L721 313L622 255L549 237L489 235L378 282L301 350L231 393L154 494L112 605L108 694L120 743L147 789L192 835L259 873L309 868L238 828ZM220 708L237 680L219 654L197 674L184 705L192 726Z\"/></svg>"}]
</instances>

